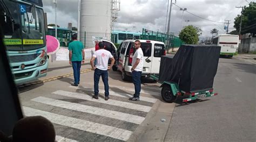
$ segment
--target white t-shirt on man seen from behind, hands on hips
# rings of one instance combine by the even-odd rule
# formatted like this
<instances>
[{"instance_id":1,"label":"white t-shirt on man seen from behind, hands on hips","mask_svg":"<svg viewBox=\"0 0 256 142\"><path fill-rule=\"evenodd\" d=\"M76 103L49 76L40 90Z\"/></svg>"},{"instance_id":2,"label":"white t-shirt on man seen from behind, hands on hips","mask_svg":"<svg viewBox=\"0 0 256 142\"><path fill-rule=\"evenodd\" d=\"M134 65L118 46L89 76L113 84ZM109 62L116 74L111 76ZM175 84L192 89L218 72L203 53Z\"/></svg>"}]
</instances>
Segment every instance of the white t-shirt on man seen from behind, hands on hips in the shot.
<instances>
[{"instance_id":1,"label":"white t-shirt on man seen from behind, hands on hips","mask_svg":"<svg viewBox=\"0 0 256 142\"><path fill-rule=\"evenodd\" d=\"M92 56L97 58L96 68L100 70L107 70L109 59L113 57L112 54L105 49L99 49L95 51Z\"/></svg>"}]
</instances>

